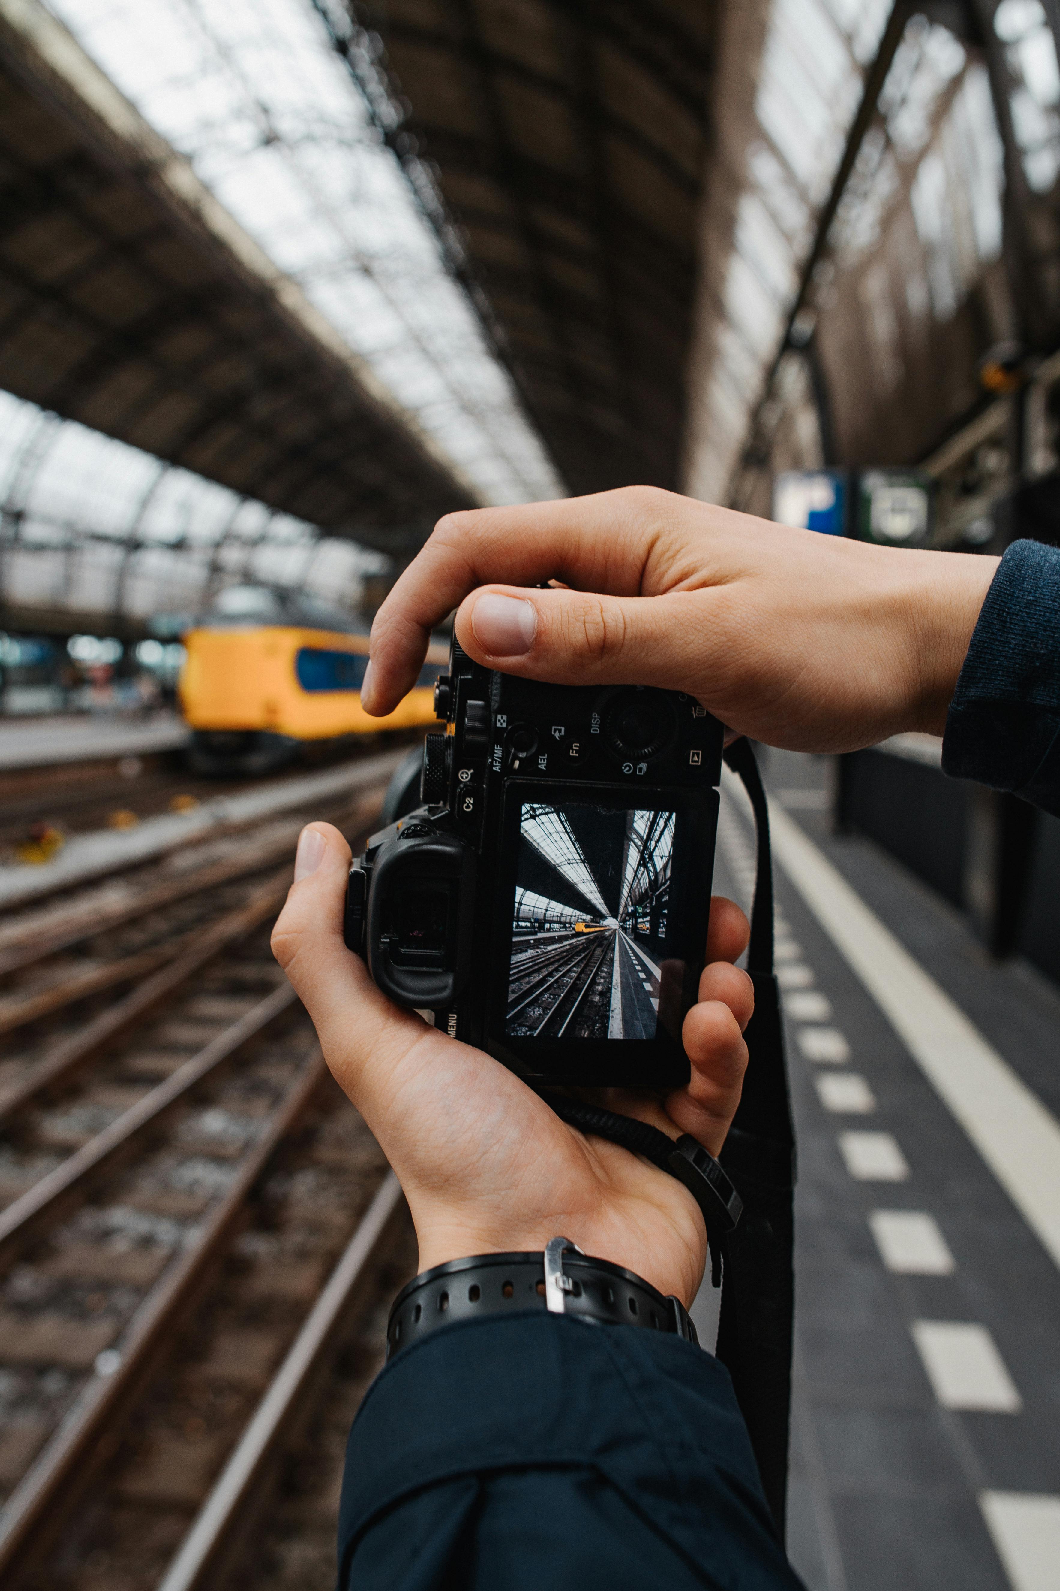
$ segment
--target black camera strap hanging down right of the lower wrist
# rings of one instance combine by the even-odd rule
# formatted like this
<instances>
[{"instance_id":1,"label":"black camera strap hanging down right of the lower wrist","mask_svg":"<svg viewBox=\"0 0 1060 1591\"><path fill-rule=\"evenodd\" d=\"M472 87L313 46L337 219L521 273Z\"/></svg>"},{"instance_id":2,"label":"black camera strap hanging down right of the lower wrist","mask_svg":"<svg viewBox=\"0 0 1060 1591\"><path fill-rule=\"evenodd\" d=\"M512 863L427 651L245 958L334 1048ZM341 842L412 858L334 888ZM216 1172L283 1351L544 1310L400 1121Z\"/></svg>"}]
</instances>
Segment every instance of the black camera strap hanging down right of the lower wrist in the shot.
<instances>
[{"instance_id":1,"label":"black camera strap hanging down right of the lower wrist","mask_svg":"<svg viewBox=\"0 0 1060 1591\"><path fill-rule=\"evenodd\" d=\"M715 1354L733 1376L777 1537L783 1542L795 1313L795 1128L780 991L772 971L766 791L747 740L734 741L725 760L750 797L758 869L747 955L755 1013L744 1033L749 1050L744 1091L720 1160L688 1134L674 1142L647 1122L615 1111L545 1090L542 1098L571 1126L621 1144L679 1177L699 1204L707 1225L710 1276L715 1287L721 1284Z\"/></svg>"}]
</instances>

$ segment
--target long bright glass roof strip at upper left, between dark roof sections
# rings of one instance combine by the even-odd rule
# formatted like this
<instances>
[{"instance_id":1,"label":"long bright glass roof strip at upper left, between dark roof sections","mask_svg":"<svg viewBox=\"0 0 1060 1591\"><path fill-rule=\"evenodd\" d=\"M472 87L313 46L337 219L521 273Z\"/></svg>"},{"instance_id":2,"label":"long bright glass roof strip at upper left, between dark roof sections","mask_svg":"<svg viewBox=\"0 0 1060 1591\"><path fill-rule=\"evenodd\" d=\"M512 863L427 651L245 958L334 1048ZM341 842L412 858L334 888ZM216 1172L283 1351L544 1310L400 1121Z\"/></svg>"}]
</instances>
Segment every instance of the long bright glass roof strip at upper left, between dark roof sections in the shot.
<instances>
[{"instance_id":1,"label":"long bright glass roof strip at upper left, between dark roof sections","mask_svg":"<svg viewBox=\"0 0 1060 1591\"><path fill-rule=\"evenodd\" d=\"M563 495L307 0L49 6L483 501Z\"/></svg>"}]
</instances>

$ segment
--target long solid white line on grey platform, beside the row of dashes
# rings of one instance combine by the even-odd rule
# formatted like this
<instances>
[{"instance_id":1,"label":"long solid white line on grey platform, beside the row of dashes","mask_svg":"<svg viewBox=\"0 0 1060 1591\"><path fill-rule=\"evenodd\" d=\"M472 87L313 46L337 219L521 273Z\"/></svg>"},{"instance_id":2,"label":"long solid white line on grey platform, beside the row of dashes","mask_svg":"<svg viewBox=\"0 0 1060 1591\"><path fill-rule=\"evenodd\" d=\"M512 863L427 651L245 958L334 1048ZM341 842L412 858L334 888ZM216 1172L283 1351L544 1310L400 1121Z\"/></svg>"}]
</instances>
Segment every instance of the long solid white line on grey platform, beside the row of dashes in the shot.
<instances>
[{"instance_id":1,"label":"long solid white line on grey platform, beside the row of dashes","mask_svg":"<svg viewBox=\"0 0 1060 1591\"><path fill-rule=\"evenodd\" d=\"M776 802L769 826L785 873L1060 1266L1060 1123Z\"/></svg>"}]
</instances>

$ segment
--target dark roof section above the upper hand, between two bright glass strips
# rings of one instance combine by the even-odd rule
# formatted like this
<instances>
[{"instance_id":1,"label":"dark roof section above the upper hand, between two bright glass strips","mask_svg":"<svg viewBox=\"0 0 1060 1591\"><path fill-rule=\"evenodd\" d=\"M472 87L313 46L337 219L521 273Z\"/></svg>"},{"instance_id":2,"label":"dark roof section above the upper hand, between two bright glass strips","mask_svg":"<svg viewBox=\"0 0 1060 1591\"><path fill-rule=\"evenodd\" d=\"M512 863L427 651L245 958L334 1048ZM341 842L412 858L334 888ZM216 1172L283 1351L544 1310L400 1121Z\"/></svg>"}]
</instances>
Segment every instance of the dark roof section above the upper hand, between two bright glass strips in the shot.
<instances>
[{"instance_id":1,"label":"dark roof section above the upper hand, between two bright glass strips","mask_svg":"<svg viewBox=\"0 0 1060 1591\"><path fill-rule=\"evenodd\" d=\"M354 10L569 488L677 487L714 0Z\"/></svg>"}]
</instances>

